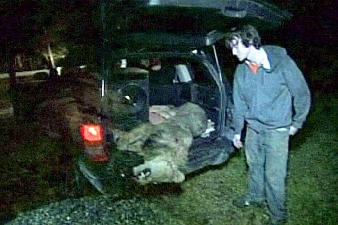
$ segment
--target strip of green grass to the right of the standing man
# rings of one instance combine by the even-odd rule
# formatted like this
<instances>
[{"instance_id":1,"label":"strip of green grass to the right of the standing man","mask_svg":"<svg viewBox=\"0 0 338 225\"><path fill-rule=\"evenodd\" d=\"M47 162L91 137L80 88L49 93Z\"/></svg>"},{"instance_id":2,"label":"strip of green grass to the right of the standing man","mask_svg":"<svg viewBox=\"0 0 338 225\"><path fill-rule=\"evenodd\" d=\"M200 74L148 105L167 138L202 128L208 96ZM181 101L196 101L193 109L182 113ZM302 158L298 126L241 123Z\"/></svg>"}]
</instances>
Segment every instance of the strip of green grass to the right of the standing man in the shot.
<instances>
[{"instance_id":1,"label":"strip of green grass to the right of the standing man","mask_svg":"<svg viewBox=\"0 0 338 225\"><path fill-rule=\"evenodd\" d=\"M322 97L301 134L304 142L292 149L288 206L296 212L293 224L338 224L337 112L337 96Z\"/></svg>"}]
</instances>

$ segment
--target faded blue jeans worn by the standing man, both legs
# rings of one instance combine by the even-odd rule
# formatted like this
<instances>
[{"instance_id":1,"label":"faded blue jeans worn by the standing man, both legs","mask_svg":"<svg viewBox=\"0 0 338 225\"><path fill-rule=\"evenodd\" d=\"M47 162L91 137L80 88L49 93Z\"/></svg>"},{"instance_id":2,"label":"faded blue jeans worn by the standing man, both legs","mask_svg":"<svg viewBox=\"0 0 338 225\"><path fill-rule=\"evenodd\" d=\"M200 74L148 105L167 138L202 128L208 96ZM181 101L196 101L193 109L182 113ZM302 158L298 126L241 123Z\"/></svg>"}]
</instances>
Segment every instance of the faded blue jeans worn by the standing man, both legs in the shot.
<instances>
[{"instance_id":1,"label":"faded blue jeans worn by the standing man, both legs","mask_svg":"<svg viewBox=\"0 0 338 225\"><path fill-rule=\"evenodd\" d=\"M248 198L266 199L273 219L286 217L285 180L287 174L289 129L256 132L248 128L245 155L249 166Z\"/></svg>"}]
</instances>

